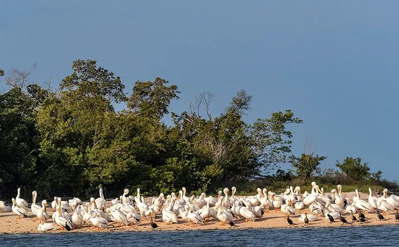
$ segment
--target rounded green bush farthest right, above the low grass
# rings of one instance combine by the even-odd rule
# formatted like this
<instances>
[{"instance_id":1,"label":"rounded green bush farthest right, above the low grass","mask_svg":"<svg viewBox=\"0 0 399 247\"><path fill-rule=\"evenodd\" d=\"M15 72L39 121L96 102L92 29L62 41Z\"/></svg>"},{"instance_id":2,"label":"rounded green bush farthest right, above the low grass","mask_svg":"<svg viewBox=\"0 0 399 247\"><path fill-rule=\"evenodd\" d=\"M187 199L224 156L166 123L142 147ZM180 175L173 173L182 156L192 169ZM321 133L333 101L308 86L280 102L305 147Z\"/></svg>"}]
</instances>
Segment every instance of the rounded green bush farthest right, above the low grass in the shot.
<instances>
[{"instance_id":1,"label":"rounded green bush farthest right, above the low grass","mask_svg":"<svg viewBox=\"0 0 399 247\"><path fill-rule=\"evenodd\" d=\"M347 157L342 163L337 161L337 167L341 169L347 176L354 180L362 181L370 178L370 167L368 163L362 164L361 158ZM376 177L381 178L381 171L376 173Z\"/></svg>"}]
</instances>

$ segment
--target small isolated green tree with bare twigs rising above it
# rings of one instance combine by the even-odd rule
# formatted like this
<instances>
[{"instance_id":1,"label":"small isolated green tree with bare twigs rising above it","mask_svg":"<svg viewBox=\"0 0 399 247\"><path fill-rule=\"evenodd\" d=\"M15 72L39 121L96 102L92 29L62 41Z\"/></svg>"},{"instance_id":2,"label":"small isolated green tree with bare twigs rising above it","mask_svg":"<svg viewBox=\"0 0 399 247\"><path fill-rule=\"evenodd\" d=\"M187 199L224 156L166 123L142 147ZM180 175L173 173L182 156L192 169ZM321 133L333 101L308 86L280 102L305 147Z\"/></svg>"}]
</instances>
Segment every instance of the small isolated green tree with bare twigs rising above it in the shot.
<instances>
[{"instance_id":1,"label":"small isolated green tree with bare twigs rising above it","mask_svg":"<svg viewBox=\"0 0 399 247\"><path fill-rule=\"evenodd\" d=\"M320 171L319 165L321 161L327 159L326 156L313 156L312 154L302 154L301 157L290 156L290 163L296 168L296 173L308 179L314 172Z\"/></svg>"}]
</instances>

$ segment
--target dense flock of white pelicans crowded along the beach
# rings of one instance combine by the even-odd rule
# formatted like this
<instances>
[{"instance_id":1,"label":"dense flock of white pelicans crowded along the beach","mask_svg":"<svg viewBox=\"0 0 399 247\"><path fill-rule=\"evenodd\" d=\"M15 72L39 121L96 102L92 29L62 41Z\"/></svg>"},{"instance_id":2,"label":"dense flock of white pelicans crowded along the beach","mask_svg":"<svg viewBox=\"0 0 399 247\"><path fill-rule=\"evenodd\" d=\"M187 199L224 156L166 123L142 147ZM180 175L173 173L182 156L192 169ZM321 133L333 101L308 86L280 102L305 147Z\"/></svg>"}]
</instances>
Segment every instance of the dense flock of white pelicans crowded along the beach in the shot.
<instances>
[{"instance_id":1,"label":"dense flock of white pelicans crowded along the beach","mask_svg":"<svg viewBox=\"0 0 399 247\"><path fill-rule=\"evenodd\" d=\"M363 200L358 190L356 196L353 197L352 203L349 198L342 196L342 186L338 185L337 189L331 190L330 194L325 194L323 188L312 182L312 190L310 193L301 193L301 189L297 186L295 189L291 186L284 193L277 195L274 192L258 188L257 194L253 196L236 196L236 188L231 188L231 196L229 189L224 188L218 192L217 197L207 196L202 193L200 196L188 197L186 188L183 187L179 194L171 193L165 195L160 193L158 197L154 197L151 203L146 203L144 197L140 195L140 189L137 189L137 195L129 195L129 190L125 189L119 198L115 198L107 202L104 198L103 191L100 188L100 197L97 199L90 198L89 203L83 203L79 198L73 198L68 201L62 201L59 197L54 197L51 202L53 214L51 215L52 223L47 222L50 216L47 211L47 202L43 200L41 205L36 204L37 192L32 192L32 203L30 210L39 221L39 231L50 231L58 228L70 231L74 228L97 227L100 231L112 224L131 225L132 227L141 224L142 221L150 221L152 229L157 226L155 217L159 216L163 222L167 224L178 223L178 218L186 222L186 225L198 226L204 224L210 218L218 219L224 226L234 226L233 221L245 219L247 221L256 221L263 218L264 213L268 210L281 211L288 221L290 215L297 215L296 210L307 208L310 213L302 214L299 221L308 223L316 221L320 215L325 216L330 222L333 219L341 219L342 214L353 214L358 211L365 213L377 210L380 218L379 210L383 214L394 213L399 208L399 196L388 196L388 189L384 189L384 195L374 197L371 188L369 188L368 200ZM224 193L224 195L223 195ZM10 212L18 216L27 216L28 203L20 198L20 188L17 195L12 198L12 206L4 205L0 201L0 212ZM360 213L361 214L361 213ZM399 218L397 211L397 219ZM364 216L360 216L364 217ZM356 218L355 218L356 219ZM381 220L381 218L380 218Z\"/></svg>"}]
</instances>

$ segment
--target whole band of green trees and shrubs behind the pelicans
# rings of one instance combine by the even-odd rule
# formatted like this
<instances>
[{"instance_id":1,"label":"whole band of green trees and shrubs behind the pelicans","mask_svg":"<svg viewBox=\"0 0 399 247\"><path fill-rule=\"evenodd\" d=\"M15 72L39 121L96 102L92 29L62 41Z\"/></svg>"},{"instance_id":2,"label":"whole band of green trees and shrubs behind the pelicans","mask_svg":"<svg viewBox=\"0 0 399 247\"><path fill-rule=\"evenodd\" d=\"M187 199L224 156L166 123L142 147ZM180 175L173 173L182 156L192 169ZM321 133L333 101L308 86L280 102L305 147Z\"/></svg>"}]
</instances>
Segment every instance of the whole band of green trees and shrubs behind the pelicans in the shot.
<instances>
[{"instance_id":1,"label":"whole band of green trees and shrubs behind the pelicans","mask_svg":"<svg viewBox=\"0 0 399 247\"><path fill-rule=\"evenodd\" d=\"M94 60L74 61L72 74L57 86L31 82L34 68L0 70L9 85L0 94L0 198L15 196L17 187L42 197L89 198L99 186L109 197L124 188L156 195L183 186L214 194L234 185L245 194L291 184L310 189L311 180L326 190L337 184L398 189L361 158L349 156L337 161L337 170L321 170L327 156L294 156L290 128L303 120L287 109L245 122L252 96L243 89L221 113L210 111L210 92L175 113L169 105L181 92L166 79L127 84L133 89L128 95L122 80ZM116 104L125 108L116 111ZM172 125L163 121L168 114ZM278 168L285 163L293 169Z\"/></svg>"}]
</instances>

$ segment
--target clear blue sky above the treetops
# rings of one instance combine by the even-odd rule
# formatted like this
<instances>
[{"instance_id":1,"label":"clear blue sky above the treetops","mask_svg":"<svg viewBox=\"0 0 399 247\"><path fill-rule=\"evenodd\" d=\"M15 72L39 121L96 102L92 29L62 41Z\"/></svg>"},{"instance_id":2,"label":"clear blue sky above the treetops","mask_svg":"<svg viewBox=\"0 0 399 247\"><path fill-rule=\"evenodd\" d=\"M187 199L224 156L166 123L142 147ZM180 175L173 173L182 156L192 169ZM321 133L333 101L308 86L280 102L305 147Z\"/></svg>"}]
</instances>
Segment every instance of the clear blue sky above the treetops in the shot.
<instances>
[{"instance_id":1,"label":"clear blue sky above the treetops","mask_svg":"<svg viewBox=\"0 0 399 247\"><path fill-rule=\"evenodd\" d=\"M36 62L31 79L57 84L73 60L97 60L126 92L157 76L177 84L178 113L210 91L217 115L244 88L254 96L249 123L284 109L304 120L292 128L293 154L314 136L323 167L359 156L397 179L398 9L365 0L3 1L0 68Z\"/></svg>"}]
</instances>

